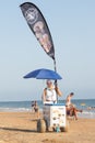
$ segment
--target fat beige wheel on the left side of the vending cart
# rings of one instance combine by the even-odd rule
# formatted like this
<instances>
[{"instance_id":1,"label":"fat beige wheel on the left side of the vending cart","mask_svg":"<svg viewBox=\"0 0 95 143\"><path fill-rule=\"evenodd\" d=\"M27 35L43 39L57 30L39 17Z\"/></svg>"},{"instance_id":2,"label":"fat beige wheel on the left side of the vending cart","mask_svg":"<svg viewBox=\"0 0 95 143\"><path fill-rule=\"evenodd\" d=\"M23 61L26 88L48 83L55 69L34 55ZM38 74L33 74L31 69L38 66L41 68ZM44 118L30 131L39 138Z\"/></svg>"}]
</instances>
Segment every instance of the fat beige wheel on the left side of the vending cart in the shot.
<instances>
[{"instance_id":1,"label":"fat beige wheel on the left side of the vending cart","mask_svg":"<svg viewBox=\"0 0 95 143\"><path fill-rule=\"evenodd\" d=\"M44 133L46 132L46 122L43 119L37 121L37 132Z\"/></svg>"}]
</instances>

